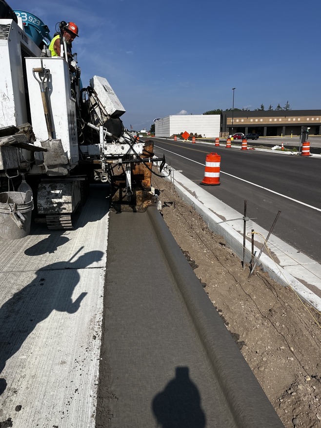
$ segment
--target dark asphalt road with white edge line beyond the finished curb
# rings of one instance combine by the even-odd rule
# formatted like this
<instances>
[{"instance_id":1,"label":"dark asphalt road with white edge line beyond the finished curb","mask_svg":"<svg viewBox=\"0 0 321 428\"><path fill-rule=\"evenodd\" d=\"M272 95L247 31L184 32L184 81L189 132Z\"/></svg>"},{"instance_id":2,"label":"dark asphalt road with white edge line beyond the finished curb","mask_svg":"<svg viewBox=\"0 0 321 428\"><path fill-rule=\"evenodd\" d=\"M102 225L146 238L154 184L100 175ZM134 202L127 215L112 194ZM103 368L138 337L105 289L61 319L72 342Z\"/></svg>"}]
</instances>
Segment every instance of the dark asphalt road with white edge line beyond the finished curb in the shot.
<instances>
[{"instance_id":1,"label":"dark asphalt road with white edge line beyond the finished curb","mask_svg":"<svg viewBox=\"0 0 321 428\"><path fill-rule=\"evenodd\" d=\"M225 204L244 212L273 234L321 263L321 159L275 152L214 147L154 139L156 156L195 183L204 178L206 154L221 156L219 186L205 186ZM200 184L201 185L201 184ZM309 205L309 206L308 206Z\"/></svg>"}]
</instances>

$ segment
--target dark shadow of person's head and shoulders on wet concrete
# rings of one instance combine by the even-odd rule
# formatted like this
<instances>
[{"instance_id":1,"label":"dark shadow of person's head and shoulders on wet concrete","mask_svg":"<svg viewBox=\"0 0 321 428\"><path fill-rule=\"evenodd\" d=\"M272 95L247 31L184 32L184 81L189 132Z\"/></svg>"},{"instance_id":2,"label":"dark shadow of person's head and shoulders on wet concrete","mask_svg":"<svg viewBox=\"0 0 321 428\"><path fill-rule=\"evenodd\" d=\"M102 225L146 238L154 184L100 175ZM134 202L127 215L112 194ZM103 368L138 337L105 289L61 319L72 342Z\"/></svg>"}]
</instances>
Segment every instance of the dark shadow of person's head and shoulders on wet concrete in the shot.
<instances>
[{"instance_id":1,"label":"dark shadow of person's head and shoulders on wet concrete","mask_svg":"<svg viewBox=\"0 0 321 428\"><path fill-rule=\"evenodd\" d=\"M189 377L188 367L176 367L176 377L152 402L157 426L162 428L204 428L198 388Z\"/></svg>"}]
</instances>

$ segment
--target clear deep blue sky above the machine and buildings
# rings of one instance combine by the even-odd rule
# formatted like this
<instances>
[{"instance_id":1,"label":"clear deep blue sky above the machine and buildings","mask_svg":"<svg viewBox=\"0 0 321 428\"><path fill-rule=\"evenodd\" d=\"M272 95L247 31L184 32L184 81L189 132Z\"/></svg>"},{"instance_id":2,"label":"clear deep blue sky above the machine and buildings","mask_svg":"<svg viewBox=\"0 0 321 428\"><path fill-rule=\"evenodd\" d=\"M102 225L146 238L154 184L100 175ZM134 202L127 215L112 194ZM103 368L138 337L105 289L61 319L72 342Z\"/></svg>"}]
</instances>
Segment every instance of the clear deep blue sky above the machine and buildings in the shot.
<instances>
[{"instance_id":1,"label":"clear deep blue sky above the machine and buildings","mask_svg":"<svg viewBox=\"0 0 321 428\"><path fill-rule=\"evenodd\" d=\"M321 108L320 1L7 1L51 35L61 20L79 26L82 84L105 77L127 128L231 108L233 87L237 108Z\"/></svg>"}]
</instances>

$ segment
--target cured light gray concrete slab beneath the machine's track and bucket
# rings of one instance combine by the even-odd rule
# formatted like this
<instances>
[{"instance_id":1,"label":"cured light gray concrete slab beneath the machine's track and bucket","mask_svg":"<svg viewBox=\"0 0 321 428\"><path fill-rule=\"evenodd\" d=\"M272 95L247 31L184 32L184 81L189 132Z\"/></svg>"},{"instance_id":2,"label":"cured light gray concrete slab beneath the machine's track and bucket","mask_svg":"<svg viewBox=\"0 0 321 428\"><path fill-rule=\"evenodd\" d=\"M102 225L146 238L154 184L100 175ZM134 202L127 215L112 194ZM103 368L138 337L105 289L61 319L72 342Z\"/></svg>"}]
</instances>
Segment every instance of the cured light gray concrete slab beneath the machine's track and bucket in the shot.
<instances>
[{"instance_id":1,"label":"cured light gray concrete slab beneath the machine's track and bucket","mask_svg":"<svg viewBox=\"0 0 321 428\"><path fill-rule=\"evenodd\" d=\"M101 190L75 230L39 225L0 240L0 422L95 427L109 216Z\"/></svg>"}]
</instances>

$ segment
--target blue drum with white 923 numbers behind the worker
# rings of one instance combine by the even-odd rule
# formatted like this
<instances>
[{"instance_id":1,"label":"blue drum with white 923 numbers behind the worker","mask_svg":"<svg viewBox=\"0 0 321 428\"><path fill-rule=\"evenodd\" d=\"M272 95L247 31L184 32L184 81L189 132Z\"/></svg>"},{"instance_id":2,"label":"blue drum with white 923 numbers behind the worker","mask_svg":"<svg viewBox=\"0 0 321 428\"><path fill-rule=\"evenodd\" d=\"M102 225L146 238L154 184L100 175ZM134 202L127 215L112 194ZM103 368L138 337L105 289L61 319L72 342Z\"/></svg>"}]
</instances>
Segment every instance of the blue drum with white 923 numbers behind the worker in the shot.
<instances>
[{"instance_id":1,"label":"blue drum with white 923 numbers behind the worker","mask_svg":"<svg viewBox=\"0 0 321 428\"><path fill-rule=\"evenodd\" d=\"M51 36L49 28L38 17L24 10L14 10L18 18L21 18L24 31L40 48L49 46Z\"/></svg>"}]
</instances>

